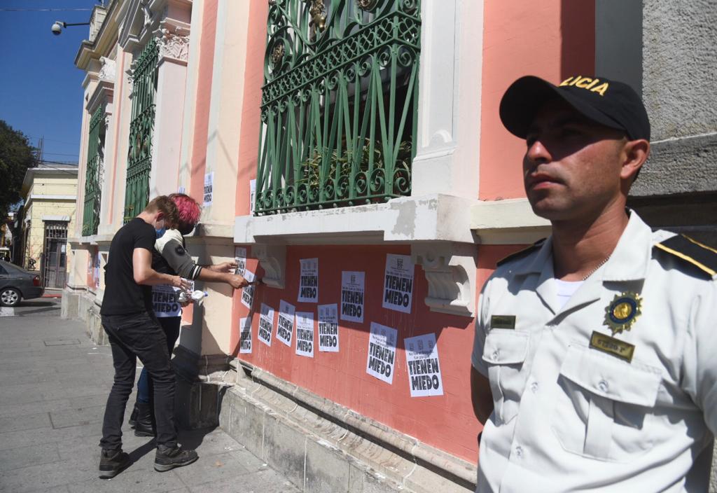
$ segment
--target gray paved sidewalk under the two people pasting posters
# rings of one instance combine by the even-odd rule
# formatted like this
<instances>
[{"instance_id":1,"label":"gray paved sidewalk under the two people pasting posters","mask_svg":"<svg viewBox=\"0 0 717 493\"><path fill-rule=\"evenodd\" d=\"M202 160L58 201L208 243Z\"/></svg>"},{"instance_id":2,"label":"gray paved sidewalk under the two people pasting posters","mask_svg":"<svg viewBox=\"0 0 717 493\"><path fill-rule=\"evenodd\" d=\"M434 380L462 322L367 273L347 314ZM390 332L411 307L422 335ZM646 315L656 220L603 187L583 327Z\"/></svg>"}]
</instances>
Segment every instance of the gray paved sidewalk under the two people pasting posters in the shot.
<instances>
[{"instance_id":1,"label":"gray paved sidewalk under the two people pasting posters","mask_svg":"<svg viewBox=\"0 0 717 493\"><path fill-rule=\"evenodd\" d=\"M154 441L135 437L126 419L124 450L135 463L98 479L112 378L110 348L92 345L79 322L0 318L0 492L299 491L219 429L180 433L199 461L155 472Z\"/></svg>"}]
</instances>

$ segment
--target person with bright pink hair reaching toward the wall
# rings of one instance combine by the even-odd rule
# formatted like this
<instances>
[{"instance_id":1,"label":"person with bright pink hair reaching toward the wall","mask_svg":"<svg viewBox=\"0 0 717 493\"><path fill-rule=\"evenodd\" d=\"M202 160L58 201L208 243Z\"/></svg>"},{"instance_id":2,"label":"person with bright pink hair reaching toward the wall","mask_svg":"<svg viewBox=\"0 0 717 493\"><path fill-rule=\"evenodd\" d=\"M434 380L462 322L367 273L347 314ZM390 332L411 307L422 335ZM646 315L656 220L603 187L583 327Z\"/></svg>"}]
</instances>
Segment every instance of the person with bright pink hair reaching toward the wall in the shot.
<instances>
[{"instance_id":1,"label":"person with bright pink hair reaching toward the wall","mask_svg":"<svg viewBox=\"0 0 717 493\"><path fill-rule=\"evenodd\" d=\"M215 265L198 265L186 252L184 235L190 234L201 216L201 209L194 198L184 193L172 193L169 198L174 201L179 211L176 229L160 231L152 254L152 268L157 272L179 275L191 281L224 282L234 289L245 287L249 283L239 274L235 262L222 262ZM167 351L171 357L174 344L179 338L181 325L181 307L189 302L180 303L176 296L179 291L171 286L155 286L152 291L154 313L167 339ZM135 429L136 436L154 436L155 426L151 396L153 393L152 378L143 368L137 381L137 401L130 416L130 426Z\"/></svg>"}]
</instances>

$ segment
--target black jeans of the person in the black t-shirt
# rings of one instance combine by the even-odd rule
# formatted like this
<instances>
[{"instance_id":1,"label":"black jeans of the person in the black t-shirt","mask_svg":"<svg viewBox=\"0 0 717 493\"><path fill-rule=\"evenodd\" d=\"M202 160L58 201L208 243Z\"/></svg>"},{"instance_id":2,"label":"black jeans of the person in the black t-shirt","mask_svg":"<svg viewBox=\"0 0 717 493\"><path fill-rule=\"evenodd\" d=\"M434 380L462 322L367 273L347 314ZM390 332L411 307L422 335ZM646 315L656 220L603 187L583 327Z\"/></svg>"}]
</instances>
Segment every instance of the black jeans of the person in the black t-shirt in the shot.
<instances>
[{"instance_id":1,"label":"black jeans of the person in the black t-shirt","mask_svg":"<svg viewBox=\"0 0 717 493\"><path fill-rule=\"evenodd\" d=\"M103 449L122 448L122 421L127 400L134 386L137 358L152 377L157 444L176 446L174 429L174 393L176 378L169 360L167 340L154 315L103 315L102 325L112 347L115 382L105 407L102 426Z\"/></svg>"}]
</instances>

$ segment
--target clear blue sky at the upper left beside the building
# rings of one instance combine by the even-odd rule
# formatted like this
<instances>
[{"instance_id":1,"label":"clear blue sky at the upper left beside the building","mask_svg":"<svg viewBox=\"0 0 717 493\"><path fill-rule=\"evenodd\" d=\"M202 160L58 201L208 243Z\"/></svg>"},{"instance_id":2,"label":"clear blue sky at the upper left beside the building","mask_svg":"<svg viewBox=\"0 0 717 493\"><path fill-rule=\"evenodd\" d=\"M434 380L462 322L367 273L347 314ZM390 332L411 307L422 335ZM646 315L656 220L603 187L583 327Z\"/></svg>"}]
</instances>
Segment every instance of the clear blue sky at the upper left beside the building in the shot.
<instances>
[{"instance_id":1,"label":"clear blue sky at the upper left beside the building","mask_svg":"<svg viewBox=\"0 0 717 493\"><path fill-rule=\"evenodd\" d=\"M56 20L87 22L87 11L4 9L92 9L95 0L0 0L0 119L37 145L44 135L47 161L77 163L82 123L82 79L75 55L89 26L72 26L60 36Z\"/></svg>"}]
</instances>

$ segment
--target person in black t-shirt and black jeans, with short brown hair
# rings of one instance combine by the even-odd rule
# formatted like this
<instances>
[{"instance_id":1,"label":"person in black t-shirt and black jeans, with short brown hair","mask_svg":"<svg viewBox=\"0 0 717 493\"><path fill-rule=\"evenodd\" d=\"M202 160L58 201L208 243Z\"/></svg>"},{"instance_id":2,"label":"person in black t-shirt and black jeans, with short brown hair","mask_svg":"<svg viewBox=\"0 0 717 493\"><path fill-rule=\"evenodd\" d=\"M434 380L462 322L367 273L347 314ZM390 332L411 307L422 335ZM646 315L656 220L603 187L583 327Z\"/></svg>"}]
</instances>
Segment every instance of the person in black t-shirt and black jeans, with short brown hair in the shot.
<instances>
[{"instance_id":1,"label":"person in black t-shirt and black jeans, with short brown hair","mask_svg":"<svg viewBox=\"0 0 717 493\"><path fill-rule=\"evenodd\" d=\"M152 310L152 289L170 284L186 289L179 276L152 269L154 241L177 221L177 208L167 196L154 198L135 219L121 227L110 244L105 267L105 295L100 310L115 367L115 380L105 406L100 478L115 477L130 465L122 451L122 420L134 385L137 358L153 378L157 451L154 469L168 471L196 461L193 450L177 444L174 428L176 378L166 348L166 336Z\"/></svg>"}]
</instances>

